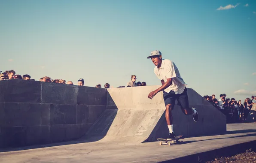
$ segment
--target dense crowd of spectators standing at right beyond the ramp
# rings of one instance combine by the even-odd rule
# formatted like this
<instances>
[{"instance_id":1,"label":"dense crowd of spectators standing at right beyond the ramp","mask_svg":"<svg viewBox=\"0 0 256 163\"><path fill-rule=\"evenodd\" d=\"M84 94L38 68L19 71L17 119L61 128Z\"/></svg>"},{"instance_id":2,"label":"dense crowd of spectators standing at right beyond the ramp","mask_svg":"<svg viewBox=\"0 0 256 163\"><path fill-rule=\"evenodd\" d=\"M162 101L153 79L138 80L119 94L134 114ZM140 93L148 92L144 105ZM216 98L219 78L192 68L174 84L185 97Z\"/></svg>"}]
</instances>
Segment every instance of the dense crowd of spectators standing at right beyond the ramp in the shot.
<instances>
[{"instance_id":1,"label":"dense crowd of spectators standing at right beyond the ramp","mask_svg":"<svg viewBox=\"0 0 256 163\"><path fill-rule=\"evenodd\" d=\"M227 117L227 123L241 123L246 120L253 104L256 104L256 96L248 97L244 101L235 98L226 98L226 94L220 94L219 99L215 95L204 96L204 99L219 109ZM256 110L252 110L254 122L256 122Z\"/></svg>"}]
</instances>

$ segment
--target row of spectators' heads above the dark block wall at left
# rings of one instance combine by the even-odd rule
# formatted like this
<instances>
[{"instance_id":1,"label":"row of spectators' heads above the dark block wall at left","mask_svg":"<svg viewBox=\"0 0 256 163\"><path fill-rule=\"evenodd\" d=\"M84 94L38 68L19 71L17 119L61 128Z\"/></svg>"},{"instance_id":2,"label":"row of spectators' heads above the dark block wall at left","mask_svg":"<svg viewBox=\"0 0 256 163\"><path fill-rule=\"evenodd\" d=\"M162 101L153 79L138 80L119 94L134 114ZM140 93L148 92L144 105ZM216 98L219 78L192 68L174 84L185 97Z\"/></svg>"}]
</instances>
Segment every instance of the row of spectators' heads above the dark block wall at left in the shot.
<instances>
[{"instance_id":1,"label":"row of spectators' heads above the dark block wall at left","mask_svg":"<svg viewBox=\"0 0 256 163\"><path fill-rule=\"evenodd\" d=\"M0 71L0 81L1 80L9 80L9 79L24 79L24 80L35 80L35 79L31 79L31 76L28 74L25 74L23 76L16 74L16 72L14 70L9 70L9 71L5 71L3 73L1 73L2 71ZM136 75L131 75L131 79L130 81L127 83L126 87L137 87L137 86L146 86L146 82L136 82ZM52 79L49 76L44 76L42 78L39 79L40 82L50 82L50 83L58 83L58 84L67 84L67 85L73 85L72 81L68 81L66 83L66 80L64 79ZM79 80L77 81L77 85L79 86L84 86L85 82L83 78L79 78ZM102 88L101 84L98 84L95 86L96 88ZM125 86L119 86L117 88L123 88ZM105 83L104 84L104 88L110 88L110 84L109 83Z\"/></svg>"}]
</instances>

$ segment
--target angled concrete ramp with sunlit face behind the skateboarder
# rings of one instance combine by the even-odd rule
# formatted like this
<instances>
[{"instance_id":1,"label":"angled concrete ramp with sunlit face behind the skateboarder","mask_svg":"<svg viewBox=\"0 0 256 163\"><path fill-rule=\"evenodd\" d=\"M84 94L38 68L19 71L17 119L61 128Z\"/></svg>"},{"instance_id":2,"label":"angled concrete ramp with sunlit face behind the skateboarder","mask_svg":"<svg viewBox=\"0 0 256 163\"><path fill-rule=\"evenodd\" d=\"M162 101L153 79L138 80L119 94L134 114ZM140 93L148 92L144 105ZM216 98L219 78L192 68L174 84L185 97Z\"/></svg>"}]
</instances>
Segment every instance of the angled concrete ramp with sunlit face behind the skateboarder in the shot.
<instances>
[{"instance_id":1,"label":"angled concrete ramp with sunlit face behind the skateboarder","mask_svg":"<svg viewBox=\"0 0 256 163\"><path fill-rule=\"evenodd\" d=\"M107 109L86 133L86 137L102 137L101 141L151 142L168 136L165 120L163 93L152 100L149 92L157 86L112 88L107 90ZM205 101L194 90L188 88L190 106L200 114L194 122L192 115L186 116L179 106L174 107L174 132L177 135L198 136L226 131L226 117Z\"/></svg>"}]
</instances>

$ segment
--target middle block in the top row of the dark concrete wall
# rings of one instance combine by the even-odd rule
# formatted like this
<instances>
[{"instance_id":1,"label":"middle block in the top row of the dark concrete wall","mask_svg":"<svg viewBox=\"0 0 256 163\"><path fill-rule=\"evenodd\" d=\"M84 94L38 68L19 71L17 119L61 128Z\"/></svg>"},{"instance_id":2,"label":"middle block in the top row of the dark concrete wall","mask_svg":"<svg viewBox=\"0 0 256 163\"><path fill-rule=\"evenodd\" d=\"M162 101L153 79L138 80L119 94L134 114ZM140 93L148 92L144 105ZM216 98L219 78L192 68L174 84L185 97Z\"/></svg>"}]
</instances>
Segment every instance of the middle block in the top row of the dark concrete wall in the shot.
<instances>
[{"instance_id":1,"label":"middle block in the top row of the dark concrete wall","mask_svg":"<svg viewBox=\"0 0 256 163\"><path fill-rule=\"evenodd\" d=\"M42 82L42 103L76 105L78 87Z\"/></svg>"}]
</instances>

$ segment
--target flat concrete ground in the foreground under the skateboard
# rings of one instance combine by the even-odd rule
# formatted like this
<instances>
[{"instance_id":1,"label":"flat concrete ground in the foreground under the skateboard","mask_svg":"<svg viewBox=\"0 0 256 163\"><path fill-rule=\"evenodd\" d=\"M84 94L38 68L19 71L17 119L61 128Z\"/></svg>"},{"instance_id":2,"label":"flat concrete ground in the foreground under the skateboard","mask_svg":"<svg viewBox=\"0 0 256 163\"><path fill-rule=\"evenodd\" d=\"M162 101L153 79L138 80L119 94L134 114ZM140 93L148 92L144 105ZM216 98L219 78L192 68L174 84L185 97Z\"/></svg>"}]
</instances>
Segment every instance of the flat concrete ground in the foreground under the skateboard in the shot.
<instances>
[{"instance_id":1,"label":"flat concrete ground in the foreground under the skateboard","mask_svg":"<svg viewBox=\"0 0 256 163\"><path fill-rule=\"evenodd\" d=\"M222 135L184 139L182 145L159 145L159 142L125 143L85 140L10 148L0 151L1 163L148 163L148 162L201 162L216 158L229 151L255 148L256 124L227 124ZM220 149L223 149L220 151Z\"/></svg>"}]
</instances>

